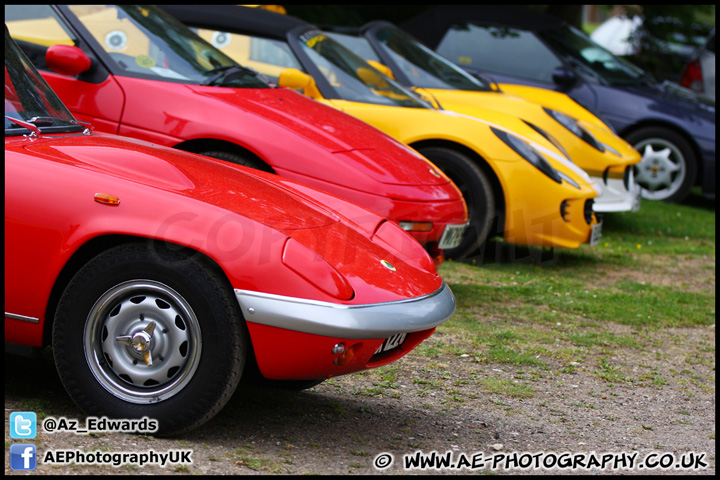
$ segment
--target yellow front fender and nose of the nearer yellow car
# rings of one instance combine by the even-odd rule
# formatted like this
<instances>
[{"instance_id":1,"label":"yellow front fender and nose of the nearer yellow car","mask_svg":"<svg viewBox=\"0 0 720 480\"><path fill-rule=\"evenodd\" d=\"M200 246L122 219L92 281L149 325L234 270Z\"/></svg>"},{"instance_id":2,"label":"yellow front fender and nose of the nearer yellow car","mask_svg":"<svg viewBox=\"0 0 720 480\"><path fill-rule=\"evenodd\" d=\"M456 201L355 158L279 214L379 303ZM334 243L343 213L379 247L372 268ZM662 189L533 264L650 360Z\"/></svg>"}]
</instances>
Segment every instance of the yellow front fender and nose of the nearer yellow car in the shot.
<instances>
[{"instance_id":1,"label":"yellow front fender and nose of the nearer yellow car","mask_svg":"<svg viewBox=\"0 0 720 480\"><path fill-rule=\"evenodd\" d=\"M553 152L555 159L546 155L553 167L569 175L580 185L580 190L563 182L559 185L540 173L534 166L521 159L490 131L491 123L480 117L459 115L455 112L431 109L405 108L349 102L346 100L320 99L363 121L383 130L390 136L410 145L423 141L447 142L463 146L483 158L493 169L501 184L505 202L505 231L503 239L520 245L577 248L589 240L590 227L582 216L583 205L588 198L595 198L596 190L577 174L577 171L559 161L560 153L539 138L537 146ZM508 131L516 135L535 132L524 124L514 124L497 112L476 112L486 118L494 117L496 128L505 123ZM519 120L517 120L519 122ZM512 125L513 128L507 128ZM545 142L541 145L540 142ZM563 200L570 203L571 221L560 217L559 205Z\"/></svg>"}]
</instances>

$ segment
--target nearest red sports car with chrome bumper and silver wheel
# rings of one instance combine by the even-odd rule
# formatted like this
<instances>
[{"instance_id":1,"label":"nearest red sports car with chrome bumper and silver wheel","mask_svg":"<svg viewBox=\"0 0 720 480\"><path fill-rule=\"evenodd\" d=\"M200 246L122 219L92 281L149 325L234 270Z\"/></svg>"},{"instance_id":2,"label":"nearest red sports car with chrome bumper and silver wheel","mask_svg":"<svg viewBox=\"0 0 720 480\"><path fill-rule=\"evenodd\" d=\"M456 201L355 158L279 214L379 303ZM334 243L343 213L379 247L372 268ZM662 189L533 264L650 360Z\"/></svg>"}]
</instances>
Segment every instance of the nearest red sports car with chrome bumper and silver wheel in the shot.
<instances>
[{"instance_id":1,"label":"nearest red sports car with chrome bumper and silver wheel","mask_svg":"<svg viewBox=\"0 0 720 480\"><path fill-rule=\"evenodd\" d=\"M187 431L248 365L392 362L455 300L395 223L292 180L77 122L5 31L5 342L92 415Z\"/></svg>"}]
</instances>

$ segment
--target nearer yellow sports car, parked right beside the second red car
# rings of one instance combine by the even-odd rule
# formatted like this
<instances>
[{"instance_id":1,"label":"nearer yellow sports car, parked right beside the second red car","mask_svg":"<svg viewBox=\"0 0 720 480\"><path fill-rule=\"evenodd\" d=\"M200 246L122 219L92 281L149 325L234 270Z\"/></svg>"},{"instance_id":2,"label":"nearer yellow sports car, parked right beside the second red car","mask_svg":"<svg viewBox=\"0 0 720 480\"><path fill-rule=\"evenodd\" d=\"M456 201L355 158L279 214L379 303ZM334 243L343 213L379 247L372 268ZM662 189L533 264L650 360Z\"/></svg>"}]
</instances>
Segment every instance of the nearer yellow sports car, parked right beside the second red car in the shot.
<instances>
[{"instance_id":1,"label":"nearer yellow sports car, parked right beside the second red car","mask_svg":"<svg viewBox=\"0 0 720 480\"><path fill-rule=\"evenodd\" d=\"M577 248L599 238L601 187L519 118L433 108L316 27L234 6L162 6L224 53L412 146L460 188L470 228L450 258L495 234L509 243Z\"/></svg>"}]
</instances>

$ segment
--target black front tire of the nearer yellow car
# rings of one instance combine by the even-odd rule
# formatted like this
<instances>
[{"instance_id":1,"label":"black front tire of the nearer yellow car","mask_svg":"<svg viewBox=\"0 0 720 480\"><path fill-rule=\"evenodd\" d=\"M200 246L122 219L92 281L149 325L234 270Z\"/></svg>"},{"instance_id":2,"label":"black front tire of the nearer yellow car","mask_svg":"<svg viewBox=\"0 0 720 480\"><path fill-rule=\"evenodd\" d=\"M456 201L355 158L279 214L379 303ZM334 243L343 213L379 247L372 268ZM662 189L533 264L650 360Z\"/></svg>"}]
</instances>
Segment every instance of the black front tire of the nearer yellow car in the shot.
<instances>
[{"instance_id":1,"label":"black front tire of the nearer yellow car","mask_svg":"<svg viewBox=\"0 0 720 480\"><path fill-rule=\"evenodd\" d=\"M445 257L462 260L479 249L490 235L495 218L495 197L492 185L483 172L466 155L443 147L419 149L428 160L457 185L465 198L470 226L460 245L444 251Z\"/></svg>"}]
</instances>

